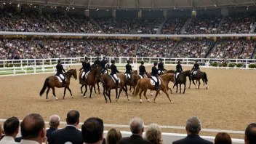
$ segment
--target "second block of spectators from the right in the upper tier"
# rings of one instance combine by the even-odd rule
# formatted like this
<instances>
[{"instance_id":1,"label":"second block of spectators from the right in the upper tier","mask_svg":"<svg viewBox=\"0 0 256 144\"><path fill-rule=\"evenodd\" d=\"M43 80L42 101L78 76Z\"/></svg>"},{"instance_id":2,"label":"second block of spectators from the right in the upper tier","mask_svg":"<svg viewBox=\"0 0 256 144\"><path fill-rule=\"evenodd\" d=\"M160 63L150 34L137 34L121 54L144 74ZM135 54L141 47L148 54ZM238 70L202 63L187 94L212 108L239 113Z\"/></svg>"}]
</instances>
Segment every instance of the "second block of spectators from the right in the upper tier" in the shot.
<instances>
[{"instance_id":1,"label":"second block of spectators from the right in the upper tier","mask_svg":"<svg viewBox=\"0 0 256 144\"><path fill-rule=\"evenodd\" d=\"M193 17L185 34L213 34L220 24L221 17L215 15L197 15Z\"/></svg>"}]
</instances>

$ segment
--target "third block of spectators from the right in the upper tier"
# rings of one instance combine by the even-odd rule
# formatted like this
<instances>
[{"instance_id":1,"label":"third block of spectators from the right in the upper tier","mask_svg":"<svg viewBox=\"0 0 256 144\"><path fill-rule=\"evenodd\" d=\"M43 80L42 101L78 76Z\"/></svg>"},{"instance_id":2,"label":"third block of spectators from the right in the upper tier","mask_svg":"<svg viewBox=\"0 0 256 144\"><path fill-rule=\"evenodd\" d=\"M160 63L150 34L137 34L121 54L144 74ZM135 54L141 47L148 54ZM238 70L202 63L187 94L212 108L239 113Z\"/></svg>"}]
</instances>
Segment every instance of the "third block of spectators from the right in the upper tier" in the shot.
<instances>
[{"instance_id":1,"label":"third block of spectators from the right in the upper tier","mask_svg":"<svg viewBox=\"0 0 256 144\"><path fill-rule=\"evenodd\" d=\"M169 17L161 28L161 34L180 34L187 17Z\"/></svg>"}]
</instances>

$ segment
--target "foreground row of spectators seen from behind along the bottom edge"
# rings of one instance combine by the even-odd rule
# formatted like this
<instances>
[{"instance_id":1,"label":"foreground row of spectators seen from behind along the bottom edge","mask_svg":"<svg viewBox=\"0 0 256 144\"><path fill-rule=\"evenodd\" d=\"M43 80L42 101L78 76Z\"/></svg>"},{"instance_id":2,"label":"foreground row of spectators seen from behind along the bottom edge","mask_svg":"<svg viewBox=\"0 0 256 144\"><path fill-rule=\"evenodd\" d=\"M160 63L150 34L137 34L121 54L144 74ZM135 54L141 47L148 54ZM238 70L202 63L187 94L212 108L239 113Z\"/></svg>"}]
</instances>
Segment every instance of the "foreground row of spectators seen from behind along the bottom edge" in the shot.
<instances>
[{"instance_id":1,"label":"foreground row of spectators seen from behind along the bottom edge","mask_svg":"<svg viewBox=\"0 0 256 144\"><path fill-rule=\"evenodd\" d=\"M140 118L133 118L129 121L129 128L132 132L130 137L123 137L118 129L109 129L104 138L104 123L103 120L96 117L91 117L84 121L84 124L79 130L80 122L79 111L72 110L67 113L67 126L59 129L60 116L52 115L49 118L49 129L42 116L38 113L30 113L25 116L23 121L16 117L11 117L4 121L4 129L0 125L0 144L58 144L58 143L76 143L76 144L162 144L168 143L163 140L161 129L158 124L150 124L148 129L144 129L144 121ZM18 132L21 132L21 137L17 137ZM193 144L204 143L213 144L208 140L200 137L201 121L192 116L188 118L185 124L187 137L172 142L173 144ZM145 132L145 137L143 133ZM217 133L215 144L232 144L230 135L225 132ZM244 143L256 143L256 124L252 123L245 129Z\"/></svg>"}]
</instances>

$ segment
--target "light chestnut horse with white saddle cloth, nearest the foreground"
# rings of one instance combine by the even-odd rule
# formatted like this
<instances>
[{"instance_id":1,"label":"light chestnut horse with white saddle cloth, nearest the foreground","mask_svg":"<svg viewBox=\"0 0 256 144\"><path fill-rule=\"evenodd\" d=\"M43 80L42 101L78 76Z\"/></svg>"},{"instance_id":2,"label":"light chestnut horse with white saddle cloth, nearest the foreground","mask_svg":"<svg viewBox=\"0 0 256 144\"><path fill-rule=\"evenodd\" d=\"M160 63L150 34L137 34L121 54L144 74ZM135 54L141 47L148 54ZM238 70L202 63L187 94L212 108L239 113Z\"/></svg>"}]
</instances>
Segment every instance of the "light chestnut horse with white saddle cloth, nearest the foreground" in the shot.
<instances>
[{"instance_id":1,"label":"light chestnut horse with white saddle cloth, nearest the foreground","mask_svg":"<svg viewBox=\"0 0 256 144\"><path fill-rule=\"evenodd\" d=\"M159 81L161 81L161 84L160 84L159 90L156 91L156 95L153 99L153 103L156 103L156 97L159 94L160 90L162 90L165 93L165 95L167 95L169 101L171 103L173 103L172 100L169 98L169 95L167 93L167 85L164 84L164 81L162 79L159 79ZM155 86L153 86L151 84L151 79L150 78L143 78L143 79L140 79L139 81L137 81L137 85L136 85L136 88L135 88L135 97L140 92L140 94L139 94L140 95L140 103L143 103L143 100L141 100L141 94L143 92L144 92L143 94L144 94L145 99L148 100L149 103L151 102L151 100L149 100L148 97L145 96L148 89L155 90Z\"/></svg>"}]
</instances>

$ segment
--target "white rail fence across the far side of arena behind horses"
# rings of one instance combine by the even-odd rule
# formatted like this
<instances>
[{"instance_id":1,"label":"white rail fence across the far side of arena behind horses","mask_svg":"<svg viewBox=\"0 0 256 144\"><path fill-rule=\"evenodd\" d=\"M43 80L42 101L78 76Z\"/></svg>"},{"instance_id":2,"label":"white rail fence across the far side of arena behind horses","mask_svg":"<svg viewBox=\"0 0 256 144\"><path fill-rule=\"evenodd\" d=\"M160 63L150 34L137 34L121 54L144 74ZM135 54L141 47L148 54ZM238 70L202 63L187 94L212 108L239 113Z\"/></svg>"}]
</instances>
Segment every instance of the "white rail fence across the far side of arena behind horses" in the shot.
<instances>
[{"instance_id":1,"label":"white rail fence across the far side of arena behind horses","mask_svg":"<svg viewBox=\"0 0 256 144\"><path fill-rule=\"evenodd\" d=\"M120 71L125 71L124 66L127 60L132 61L133 69L137 69L141 61L145 65L152 65L154 62L159 62L160 57L106 57L108 62L116 60L116 65ZM102 57L101 57L102 59ZM226 59L228 63L225 67L221 64L223 59L210 59L210 58L168 58L162 57L164 65L176 65L177 61L181 61L182 65L192 66L195 60L199 61L201 67L204 68L227 68L227 69L252 69L249 65L255 64L255 59ZM21 59L21 60L0 60L0 76L17 76L27 74L40 74L40 73L55 73L55 65L59 58L52 59ZM68 65L81 65L84 57L69 57L60 58L61 63L67 68ZM96 60L96 57L89 57L91 63ZM235 65L236 64L236 65ZM240 66L239 66L240 65Z\"/></svg>"}]
</instances>

